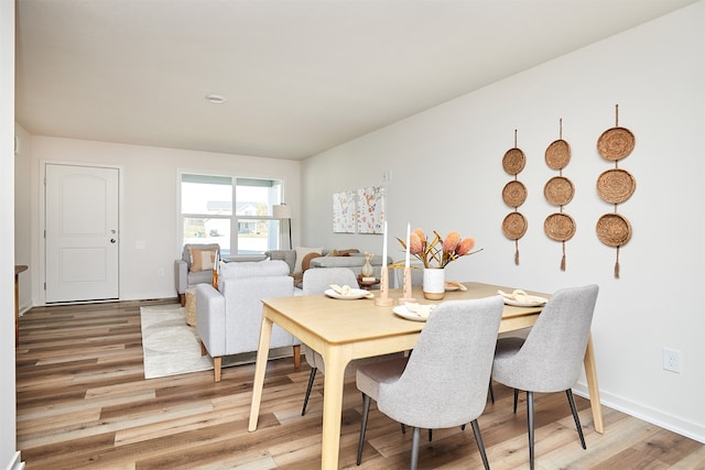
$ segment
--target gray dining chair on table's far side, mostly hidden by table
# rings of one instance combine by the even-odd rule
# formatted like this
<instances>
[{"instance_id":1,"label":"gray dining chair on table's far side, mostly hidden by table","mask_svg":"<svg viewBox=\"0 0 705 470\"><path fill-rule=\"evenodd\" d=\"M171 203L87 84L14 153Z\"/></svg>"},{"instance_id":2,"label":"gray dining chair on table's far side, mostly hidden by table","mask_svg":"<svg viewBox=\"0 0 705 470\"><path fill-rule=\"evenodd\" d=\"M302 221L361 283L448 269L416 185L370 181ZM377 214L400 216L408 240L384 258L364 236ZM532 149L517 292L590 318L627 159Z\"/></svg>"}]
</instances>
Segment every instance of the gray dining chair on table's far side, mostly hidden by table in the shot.
<instances>
[{"instance_id":1,"label":"gray dining chair on table's far side, mostly hidden by table","mask_svg":"<svg viewBox=\"0 0 705 470\"><path fill-rule=\"evenodd\" d=\"M303 276L303 291L304 295L323 294L330 284L338 284L339 286L349 285L352 288L358 288L357 276L355 272L349 267L322 267L322 269L308 269L304 271ZM344 300L348 302L348 300ZM370 300L359 300L370 302ZM308 385L306 386L306 395L304 396L304 405L301 408L301 415L306 414L306 407L308 406L308 397L313 389L314 380L316 379L316 371L325 373L325 364L323 357L311 349L307 345L301 345L301 352L305 354L306 362L311 365L311 374L308 375ZM378 361L381 359L389 359L390 357L402 357L402 353L386 354L373 358L357 359L351 361L345 370L346 375L355 373L358 364Z\"/></svg>"}]
</instances>

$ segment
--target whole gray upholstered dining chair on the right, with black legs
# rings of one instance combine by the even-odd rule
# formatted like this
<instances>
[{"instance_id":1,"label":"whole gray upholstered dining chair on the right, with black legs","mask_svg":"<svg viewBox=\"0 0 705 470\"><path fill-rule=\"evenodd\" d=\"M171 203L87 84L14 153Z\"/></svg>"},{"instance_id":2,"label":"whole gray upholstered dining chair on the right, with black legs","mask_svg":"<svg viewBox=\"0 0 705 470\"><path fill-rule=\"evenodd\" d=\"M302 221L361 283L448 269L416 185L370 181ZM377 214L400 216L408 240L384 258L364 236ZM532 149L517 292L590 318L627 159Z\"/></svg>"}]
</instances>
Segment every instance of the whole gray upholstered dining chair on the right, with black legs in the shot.
<instances>
[{"instance_id":1,"label":"whole gray upholstered dining chair on the right, with black legs","mask_svg":"<svg viewBox=\"0 0 705 470\"><path fill-rule=\"evenodd\" d=\"M497 341L492 379L514 389L514 413L519 390L527 391L529 464L534 463L533 393L565 391L583 449L583 428L571 390L579 376L590 324L597 302L597 285L557 291L549 299L527 339Z\"/></svg>"}]
</instances>

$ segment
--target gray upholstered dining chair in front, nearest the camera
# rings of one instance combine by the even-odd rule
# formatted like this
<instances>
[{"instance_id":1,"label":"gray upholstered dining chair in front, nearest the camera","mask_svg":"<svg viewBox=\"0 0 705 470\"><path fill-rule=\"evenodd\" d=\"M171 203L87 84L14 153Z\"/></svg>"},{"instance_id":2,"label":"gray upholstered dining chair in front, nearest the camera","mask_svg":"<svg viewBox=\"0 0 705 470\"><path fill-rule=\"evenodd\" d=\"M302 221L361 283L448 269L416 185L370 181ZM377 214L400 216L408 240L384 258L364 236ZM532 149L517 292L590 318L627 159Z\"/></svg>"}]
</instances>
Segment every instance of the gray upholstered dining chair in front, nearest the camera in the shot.
<instances>
[{"instance_id":1,"label":"gray upholstered dining chair in front, nearest the camera","mask_svg":"<svg viewBox=\"0 0 705 470\"><path fill-rule=\"evenodd\" d=\"M487 403L487 382L501 321L500 296L447 300L429 316L409 358L360 365L357 387L362 392L362 424L357 464L362 447L370 401L380 412L412 426L411 468L419 461L421 428L473 425L485 468L489 469L477 423Z\"/></svg>"}]
</instances>

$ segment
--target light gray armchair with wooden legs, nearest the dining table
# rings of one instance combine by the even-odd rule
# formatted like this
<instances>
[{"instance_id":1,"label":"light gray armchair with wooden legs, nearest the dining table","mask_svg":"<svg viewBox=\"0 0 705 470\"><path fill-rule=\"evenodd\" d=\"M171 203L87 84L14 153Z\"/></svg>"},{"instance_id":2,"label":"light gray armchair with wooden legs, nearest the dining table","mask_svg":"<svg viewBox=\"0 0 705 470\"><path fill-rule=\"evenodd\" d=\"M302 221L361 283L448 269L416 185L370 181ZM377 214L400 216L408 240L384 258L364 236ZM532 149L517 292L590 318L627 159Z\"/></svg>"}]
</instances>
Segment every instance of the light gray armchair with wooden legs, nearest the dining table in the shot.
<instances>
[{"instance_id":1,"label":"light gray armchair with wooden legs, nearest the dining table","mask_svg":"<svg viewBox=\"0 0 705 470\"><path fill-rule=\"evenodd\" d=\"M202 351L213 358L216 382L224 356L257 351L262 298L292 296L297 291L283 261L223 263L217 289L210 284L196 285L196 331ZM274 325L270 348L293 347L295 367L301 363L300 345Z\"/></svg>"}]
</instances>

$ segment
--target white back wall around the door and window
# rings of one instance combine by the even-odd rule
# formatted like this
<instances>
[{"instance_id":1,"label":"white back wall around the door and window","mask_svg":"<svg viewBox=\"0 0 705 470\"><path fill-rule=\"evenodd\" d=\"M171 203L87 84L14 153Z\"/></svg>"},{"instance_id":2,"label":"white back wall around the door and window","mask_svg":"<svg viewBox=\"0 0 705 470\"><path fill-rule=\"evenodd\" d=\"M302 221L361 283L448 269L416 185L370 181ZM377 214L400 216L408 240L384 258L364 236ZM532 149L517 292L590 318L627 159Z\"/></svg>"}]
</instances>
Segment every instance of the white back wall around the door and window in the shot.
<instances>
[{"instance_id":1,"label":"white back wall around the door and window","mask_svg":"<svg viewBox=\"0 0 705 470\"><path fill-rule=\"evenodd\" d=\"M294 240L297 233L300 162L173 149L90 142L47 136L31 138L32 297L44 303L41 198L47 162L90 163L121 170L120 298L176 296L174 260L181 256L177 225L180 170L262 176L284 181L285 200L292 205ZM145 249L137 249L144 241ZM160 269L165 272L159 276Z\"/></svg>"}]
</instances>

